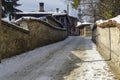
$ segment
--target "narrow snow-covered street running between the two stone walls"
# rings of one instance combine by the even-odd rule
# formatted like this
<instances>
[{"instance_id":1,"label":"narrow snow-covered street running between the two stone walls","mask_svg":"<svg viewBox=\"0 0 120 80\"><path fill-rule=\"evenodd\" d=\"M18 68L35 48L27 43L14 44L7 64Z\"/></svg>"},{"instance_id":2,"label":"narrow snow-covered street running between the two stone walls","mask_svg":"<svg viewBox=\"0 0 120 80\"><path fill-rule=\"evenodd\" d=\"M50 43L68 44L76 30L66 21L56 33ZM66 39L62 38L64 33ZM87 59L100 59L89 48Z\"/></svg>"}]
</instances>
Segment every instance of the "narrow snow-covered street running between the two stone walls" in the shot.
<instances>
[{"instance_id":1,"label":"narrow snow-covered street running between the two stone walls","mask_svg":"<svg viewBox=\"0 0 120 80\"><path fill-rule=\"evenodd\" d=\"M90 37L68 37L0 64L0 80L119 80Z\"/></svg>"}]
</instances>

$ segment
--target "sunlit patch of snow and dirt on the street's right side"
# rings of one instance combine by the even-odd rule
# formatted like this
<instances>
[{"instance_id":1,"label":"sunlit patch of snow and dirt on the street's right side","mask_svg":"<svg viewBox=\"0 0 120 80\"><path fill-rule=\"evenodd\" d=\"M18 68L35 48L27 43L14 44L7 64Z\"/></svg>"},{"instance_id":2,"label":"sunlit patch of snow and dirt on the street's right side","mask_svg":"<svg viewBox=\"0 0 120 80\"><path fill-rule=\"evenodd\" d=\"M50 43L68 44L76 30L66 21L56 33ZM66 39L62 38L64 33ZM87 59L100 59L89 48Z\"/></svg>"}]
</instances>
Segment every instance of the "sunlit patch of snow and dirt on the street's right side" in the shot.
<instances>
[{"instance_id":1,"label":"sunlit patch of snow and dirt on the street's right side","mask_svg":"<svg viewBox=\"0 0 120 80\"><path fill-rule=\"evenodd\" d=\"M93 44L92 41L90 41L89 39L87 40L85 45L86 47L84 52L81 53L80 51L73 52L73 54L78 54L77 56L81 59L81 62L77 62L74 65L72 65L72 66L77 65L77 68L73 69L71 71L71 74L65 76L64 79L65 80L118 80L106 63L108 59L103 59L101 55L98 53L98 51L96 51L95 44ZM92 49L89 49L90 45L92 46Z\"/></svg>"}]
</instances>

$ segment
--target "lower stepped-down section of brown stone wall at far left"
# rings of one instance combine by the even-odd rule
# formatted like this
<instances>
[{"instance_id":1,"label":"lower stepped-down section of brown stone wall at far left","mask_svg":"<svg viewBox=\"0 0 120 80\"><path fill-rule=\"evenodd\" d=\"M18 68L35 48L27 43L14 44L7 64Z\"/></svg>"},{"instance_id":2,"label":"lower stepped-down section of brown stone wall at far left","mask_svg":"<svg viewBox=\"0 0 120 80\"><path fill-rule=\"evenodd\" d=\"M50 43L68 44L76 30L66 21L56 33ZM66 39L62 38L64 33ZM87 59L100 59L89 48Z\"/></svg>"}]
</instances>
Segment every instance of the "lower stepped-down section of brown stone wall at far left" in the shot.
<instances>
[{"instance_id":1,"label":"lower stepped-down section of brown stone wall at far left","mask_svg":"<svg viewBox=\"0 0 120 80\"><path fill-rule=\"evenodd\" d=\"M1 58L16 55L26 51L28 45L29 31L16 25L2 21L0 28L0 55Z\"/></svg>"}]
</instances>

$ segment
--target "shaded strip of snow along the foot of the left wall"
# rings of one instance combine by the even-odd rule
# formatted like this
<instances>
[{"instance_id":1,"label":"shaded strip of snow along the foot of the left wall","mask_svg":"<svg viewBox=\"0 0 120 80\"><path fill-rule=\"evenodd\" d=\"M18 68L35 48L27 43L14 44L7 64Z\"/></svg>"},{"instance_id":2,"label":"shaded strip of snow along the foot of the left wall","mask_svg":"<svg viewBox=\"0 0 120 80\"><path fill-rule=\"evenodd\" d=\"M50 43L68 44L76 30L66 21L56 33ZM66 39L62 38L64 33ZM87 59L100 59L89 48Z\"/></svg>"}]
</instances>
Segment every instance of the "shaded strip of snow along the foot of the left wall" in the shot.
<instances>
[{"instance_id":1,"label":"shaded strip of snow along the foot of the left wall","mask_svg":"<svg viewBox=\"0 0 120 80\"><path fill-rule=\"evenodd\" d=\"M66 45L71 40L72 38L69 37L65 41L37 48L22 55L3 60L0 64L0 77L17 71L27 63L32 64L38 60L43 60L44 58L48 57L50 53Z\"/></svg>"}]
</instances>

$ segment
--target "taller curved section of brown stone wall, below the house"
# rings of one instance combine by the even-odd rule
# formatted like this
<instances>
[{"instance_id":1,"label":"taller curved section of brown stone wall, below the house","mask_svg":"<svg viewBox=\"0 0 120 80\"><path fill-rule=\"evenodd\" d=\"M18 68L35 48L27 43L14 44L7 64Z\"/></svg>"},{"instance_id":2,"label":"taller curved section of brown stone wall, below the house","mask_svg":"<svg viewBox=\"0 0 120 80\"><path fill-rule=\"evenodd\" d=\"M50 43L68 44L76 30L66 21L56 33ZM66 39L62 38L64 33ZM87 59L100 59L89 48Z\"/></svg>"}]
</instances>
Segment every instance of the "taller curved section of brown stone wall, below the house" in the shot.
<instances>
[{"instance_id":1,"label":"taller curved section of brown stone wall, below the house","mask_svg":"<svg viewBox=\"0 0 120 80\"><path fill-rule=\"evenodd\" d=\"M67 37L66 29L52 26L40 20L30 19L23 21L28 25L31 35L31 45L34 47L57 42Z\"/></svg>"}]
</instances>

